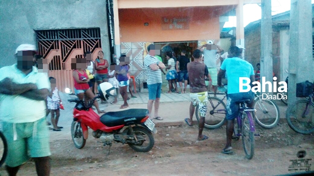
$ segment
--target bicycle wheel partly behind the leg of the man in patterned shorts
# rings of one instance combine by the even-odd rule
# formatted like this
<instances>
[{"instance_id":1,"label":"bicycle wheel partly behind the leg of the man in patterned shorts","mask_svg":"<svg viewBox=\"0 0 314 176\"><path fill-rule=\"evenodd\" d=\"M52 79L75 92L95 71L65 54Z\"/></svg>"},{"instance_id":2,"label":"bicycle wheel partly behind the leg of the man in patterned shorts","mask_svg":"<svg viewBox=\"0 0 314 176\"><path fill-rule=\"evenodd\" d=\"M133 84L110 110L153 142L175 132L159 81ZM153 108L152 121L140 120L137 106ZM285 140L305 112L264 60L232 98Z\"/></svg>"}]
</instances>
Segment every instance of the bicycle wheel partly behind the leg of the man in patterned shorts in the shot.
<instances>
[{"instance_id":1,"label":"bicycle wheel partly behind the leg of the man in patterned shorts","mask_svg":"<svg viewBox=\"0 0 314 176\"><path fill-rule=\"evenodd\" d=\"M195 116L199 122L200 114L196 106ZM221 127L226 120L226 104L217 97L209 97L207 101L207 111L205 115L205 128L215 129Z\"/></svg>"}]
</instances>

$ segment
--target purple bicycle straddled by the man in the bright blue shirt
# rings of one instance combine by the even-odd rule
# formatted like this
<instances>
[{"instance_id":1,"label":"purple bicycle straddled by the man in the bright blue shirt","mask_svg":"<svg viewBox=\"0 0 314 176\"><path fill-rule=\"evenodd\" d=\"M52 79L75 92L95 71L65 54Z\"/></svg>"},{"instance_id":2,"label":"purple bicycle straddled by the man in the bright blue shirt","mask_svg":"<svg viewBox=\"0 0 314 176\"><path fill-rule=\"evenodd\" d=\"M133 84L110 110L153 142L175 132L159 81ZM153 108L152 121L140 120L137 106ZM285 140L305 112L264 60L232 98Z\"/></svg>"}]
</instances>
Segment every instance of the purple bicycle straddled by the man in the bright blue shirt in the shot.
<instances>
[{"instance_id":1,"label":"purple bicycle straddled by the man in the bright blue shirt","mask_svg":"<svg viewBox=\"0 0 314 176\"><path fill-rule=\"evenodd\" d=\"M251 160L254 156L254 147L255 147L255 138L254 136L259 136L255 134L255 124L253 119L253 111L255 109L251 109L246 106L246 103L249 102L250 99L237 101L236 103L240 103L239 106L239 114L236 118L235 125L233 127L234 136L233 139L239 140L240 136L242 136L243 149L245 152L245 157Z\"/></svg>"}]
</instances>

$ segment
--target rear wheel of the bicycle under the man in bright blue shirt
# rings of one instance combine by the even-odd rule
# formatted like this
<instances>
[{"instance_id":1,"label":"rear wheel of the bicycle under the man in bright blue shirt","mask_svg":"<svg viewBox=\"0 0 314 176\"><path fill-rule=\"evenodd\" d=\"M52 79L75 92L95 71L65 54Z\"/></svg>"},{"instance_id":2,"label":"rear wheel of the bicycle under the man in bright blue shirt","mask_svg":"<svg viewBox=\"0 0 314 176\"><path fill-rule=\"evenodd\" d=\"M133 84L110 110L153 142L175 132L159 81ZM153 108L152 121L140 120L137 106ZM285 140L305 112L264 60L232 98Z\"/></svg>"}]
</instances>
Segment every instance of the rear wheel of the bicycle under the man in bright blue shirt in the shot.
<instances>
[{"instance_id":1,"label":"rear wheel of the bicycle under the man in bright blue shirt","mask_svg":"<svg viewBox=\"0 0 314 176\"><path fill-rule=\"evenodd\" d=\"M242 142L245 152L245 157L249 160L253 158L254 147L255 147L255 138L254 131L251 130L249 118L253 118L253 113L250 111L243 112L242 118ZM250 116L250 117L249 117ZM253 121L253 119L252 119ZM253 121L254 123L254 121Z\"/></svg>"}]
</instances>

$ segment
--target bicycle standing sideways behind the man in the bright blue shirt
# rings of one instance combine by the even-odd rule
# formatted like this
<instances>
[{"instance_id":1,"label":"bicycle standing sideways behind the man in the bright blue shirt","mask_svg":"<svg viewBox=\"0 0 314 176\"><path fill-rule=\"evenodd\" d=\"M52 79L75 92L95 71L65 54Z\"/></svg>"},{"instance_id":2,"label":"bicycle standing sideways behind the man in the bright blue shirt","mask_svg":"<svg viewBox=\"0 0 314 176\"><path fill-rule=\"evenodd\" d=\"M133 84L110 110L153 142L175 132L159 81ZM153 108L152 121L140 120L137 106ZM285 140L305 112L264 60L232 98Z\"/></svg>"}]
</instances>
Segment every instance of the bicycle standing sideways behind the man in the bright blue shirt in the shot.
<instances>
[{"instance_id":1,"label":"bicycle standing sideways behind the man in the bright blue shirt","mask_svg":"<svg viewBox=\"0 0 314 176\"><path fill-rule=\"evenodd\" d=\"M223 98L210 96L212 92L208 92L207 112L205 115L204 127L208 129L216 129L221 127L226 121L226 104L224 100L227 93L223 94ZM277 104L269 99L262 99L261 95L255 93L254 109L256 109L255 120L264 128L273 128L279 123L280 113ZM195 116L199 121L198 105L196 106Z\"/></svg>"}]
</instances>

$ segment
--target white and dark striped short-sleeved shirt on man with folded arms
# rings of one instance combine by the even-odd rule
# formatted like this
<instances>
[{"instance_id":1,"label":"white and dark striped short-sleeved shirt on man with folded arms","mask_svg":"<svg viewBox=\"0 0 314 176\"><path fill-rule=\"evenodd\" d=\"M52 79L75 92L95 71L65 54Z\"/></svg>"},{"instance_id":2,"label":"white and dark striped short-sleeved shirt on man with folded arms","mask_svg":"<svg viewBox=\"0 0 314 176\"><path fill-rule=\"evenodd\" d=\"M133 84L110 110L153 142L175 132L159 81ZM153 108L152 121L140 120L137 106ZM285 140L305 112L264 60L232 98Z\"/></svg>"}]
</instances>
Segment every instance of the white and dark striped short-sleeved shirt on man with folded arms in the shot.
<instances>
[{"instance_id":1,"label":"white and dark striped short-sleeved shirt on man with folded arms","mask_svg":"<svg viewBox=\"0 0 314 176\"><path fill-rule=\"evenodd\" d=\"M151 56L149 54L146 55L144 58L144 68L145 68L145 73L147 75L147 84L148 85L154 85L158 83L162 83L162 78L161 78L161 71L160 69L154 71L150 68L151 64L159 63L160 61L155 58L154 56Z\"/></svg>"}]
</instances>

